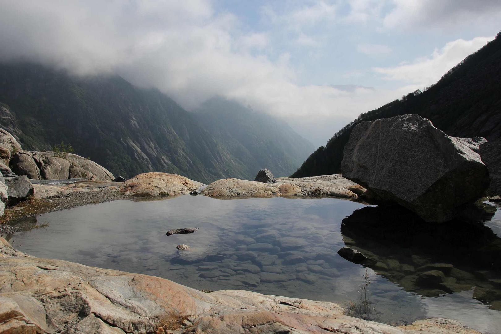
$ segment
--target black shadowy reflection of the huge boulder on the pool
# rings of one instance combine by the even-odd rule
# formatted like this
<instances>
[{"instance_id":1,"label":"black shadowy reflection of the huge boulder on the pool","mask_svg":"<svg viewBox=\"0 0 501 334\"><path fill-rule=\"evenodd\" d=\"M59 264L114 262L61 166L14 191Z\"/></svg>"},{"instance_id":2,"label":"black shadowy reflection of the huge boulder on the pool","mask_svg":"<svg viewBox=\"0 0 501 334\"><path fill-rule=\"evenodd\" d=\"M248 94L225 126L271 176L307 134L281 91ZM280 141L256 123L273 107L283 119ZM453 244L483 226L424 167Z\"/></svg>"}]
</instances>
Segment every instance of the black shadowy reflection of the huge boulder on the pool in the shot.
<instances>
[{"instance_id":1,"label":"black shadowy reflection of the huge boulder on the pool","mask_svg":"<svg viewBox=\"0 0 501 334\"><path fill-rule=\"evenodd\" d=\"M343 241L364 265L423 296L473 289L473 298L501 310L501 239L484 225L496 208L466 208L460 219L426 223L399 207L363 207L342 221Z\"/></svg>"}]
</instances>

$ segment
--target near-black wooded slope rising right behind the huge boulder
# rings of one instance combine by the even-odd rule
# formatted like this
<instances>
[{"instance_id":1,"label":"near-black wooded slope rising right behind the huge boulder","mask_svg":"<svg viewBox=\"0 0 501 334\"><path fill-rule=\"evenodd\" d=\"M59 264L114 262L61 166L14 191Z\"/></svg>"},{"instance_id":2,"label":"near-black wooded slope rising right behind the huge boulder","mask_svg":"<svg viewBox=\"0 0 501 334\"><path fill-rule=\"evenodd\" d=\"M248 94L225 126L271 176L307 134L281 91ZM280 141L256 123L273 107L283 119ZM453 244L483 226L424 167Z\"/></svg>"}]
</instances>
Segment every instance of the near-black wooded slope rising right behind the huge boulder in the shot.
<instances>
[{"instance_id":1,"label":"near-black wooded slope rising right behind the huge boulder","mask_svg":"<svg viewBox=\"0 0 501 334\"><path fill-rule=\"evenodd\" d=\"M319 147L292 175L340 173L343 149L358 123L404 114L418 114L449 136L501 137L501 33L466 57L424 92L413 92L361 114Z\"/></svg>"}]
</instances>

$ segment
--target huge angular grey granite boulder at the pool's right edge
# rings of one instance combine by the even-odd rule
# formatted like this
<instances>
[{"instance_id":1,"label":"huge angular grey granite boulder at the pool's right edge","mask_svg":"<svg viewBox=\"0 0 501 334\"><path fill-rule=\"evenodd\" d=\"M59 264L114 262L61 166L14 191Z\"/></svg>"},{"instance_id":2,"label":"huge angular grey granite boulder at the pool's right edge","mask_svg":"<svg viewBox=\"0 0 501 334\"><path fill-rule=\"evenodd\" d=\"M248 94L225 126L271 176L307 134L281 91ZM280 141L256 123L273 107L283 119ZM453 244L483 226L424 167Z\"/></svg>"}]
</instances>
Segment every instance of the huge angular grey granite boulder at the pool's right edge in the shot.
<instances>
[{"instance_id":1,"label":"huge angular grey granite boulder at the pool's right edge","mask_svg":"<svg viewBox=\"0 0 501 334\"><path fill-rule=\"evenodd\" d=\"M447 221L489 185L478 154L485 139L449 137L419 115L362 122L352 131L343 176L426 221Z\"/></svg>"}]
</instances>

